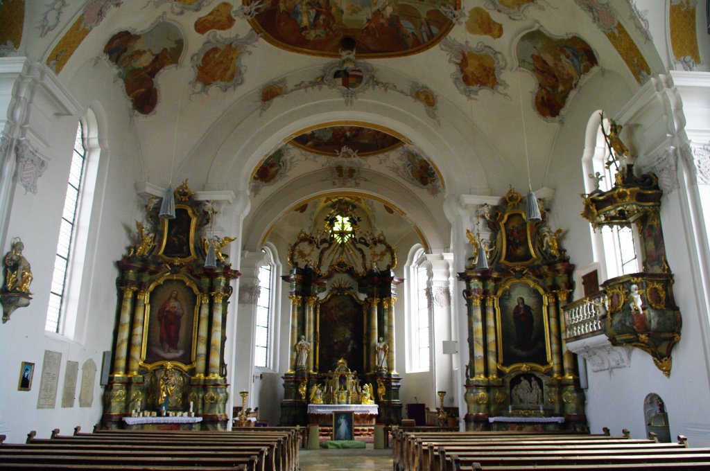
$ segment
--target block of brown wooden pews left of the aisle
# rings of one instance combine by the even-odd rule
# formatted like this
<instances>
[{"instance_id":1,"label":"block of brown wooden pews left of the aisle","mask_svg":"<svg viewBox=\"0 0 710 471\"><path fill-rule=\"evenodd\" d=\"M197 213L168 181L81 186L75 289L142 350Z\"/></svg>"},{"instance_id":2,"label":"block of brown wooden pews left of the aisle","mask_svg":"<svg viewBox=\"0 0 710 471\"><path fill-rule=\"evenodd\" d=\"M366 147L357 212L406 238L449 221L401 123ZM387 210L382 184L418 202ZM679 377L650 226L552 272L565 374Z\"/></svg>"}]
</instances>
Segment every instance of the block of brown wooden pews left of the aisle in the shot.
<instances>
[{"instance_id":1,"label":"block of brown wooden pews left of the aisle","mask_svg":"<svg viewBox=\"0 0 710 471\"><path fill-rule=\"evenodd\" d=\"M26 443L4 443L2 470L204 470L297 471L297 427L238 431L94 430L50 438L28 433Z\"/></svg>"}]
</instances>

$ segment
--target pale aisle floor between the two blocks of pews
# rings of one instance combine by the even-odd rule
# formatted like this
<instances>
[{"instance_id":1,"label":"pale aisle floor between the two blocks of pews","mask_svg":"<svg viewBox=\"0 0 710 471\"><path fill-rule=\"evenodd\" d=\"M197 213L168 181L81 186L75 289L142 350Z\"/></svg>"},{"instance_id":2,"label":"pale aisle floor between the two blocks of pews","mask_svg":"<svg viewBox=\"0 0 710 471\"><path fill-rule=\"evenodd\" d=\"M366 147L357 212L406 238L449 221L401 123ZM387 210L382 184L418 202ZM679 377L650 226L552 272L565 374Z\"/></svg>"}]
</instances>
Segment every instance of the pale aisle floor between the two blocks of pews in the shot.
<instances>
[{"instance_id":1,"label":"pale aisle floor between the two blocks of pews","mask_svg":"<svg viewBox=\"0 0 710 471\"><path fill-rule=\"evenodd\" d=\"M364 450L300 450L298 459L300 471L392 470L392 449L373 450L370 443Z\"/></svg>"}]
</instances>

